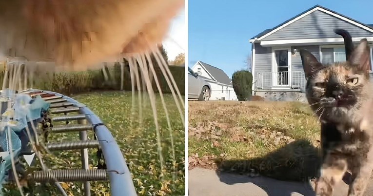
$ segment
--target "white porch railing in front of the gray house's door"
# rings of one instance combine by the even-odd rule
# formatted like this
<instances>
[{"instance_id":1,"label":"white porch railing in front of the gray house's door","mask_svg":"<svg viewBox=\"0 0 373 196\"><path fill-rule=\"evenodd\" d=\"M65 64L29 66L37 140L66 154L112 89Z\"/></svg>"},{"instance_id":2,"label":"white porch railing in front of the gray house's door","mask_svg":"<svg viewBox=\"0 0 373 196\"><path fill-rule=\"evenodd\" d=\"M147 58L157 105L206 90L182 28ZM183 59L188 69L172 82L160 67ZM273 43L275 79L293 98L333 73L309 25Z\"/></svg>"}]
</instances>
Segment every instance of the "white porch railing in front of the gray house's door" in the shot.
<instances>
[{"instance_id":1,"label":"white porch railing in front of the gray house's door","mask_svg":"<svg viewBox=\"0 0 373 196\"><path fill-rule=\"evenodd\" d=\"M255 73L254 81L255 90L271 90L271 89L299 89L304 91L306 87L306 79L304 72L257 72Z\"/></svg>"}]
</instances>

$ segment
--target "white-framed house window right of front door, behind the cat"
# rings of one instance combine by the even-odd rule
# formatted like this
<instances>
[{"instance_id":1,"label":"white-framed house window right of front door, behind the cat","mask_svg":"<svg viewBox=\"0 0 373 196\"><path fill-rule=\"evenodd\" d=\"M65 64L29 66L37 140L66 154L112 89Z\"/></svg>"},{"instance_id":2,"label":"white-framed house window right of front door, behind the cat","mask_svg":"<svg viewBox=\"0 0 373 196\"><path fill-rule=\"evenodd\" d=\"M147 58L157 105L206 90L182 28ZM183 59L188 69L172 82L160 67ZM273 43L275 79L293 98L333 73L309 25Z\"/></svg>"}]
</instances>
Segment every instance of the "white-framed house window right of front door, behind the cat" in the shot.
<instances>
[{"instance_id":1,"label":"white-framed house window right of front door, behind the cat","mask_svg":"<svg viewBox=\"0 0 373 196\"><path fill-rule=\"evenodd\" d=\"M342 61L346 61L346 52L344 47L321 48L321 63L328 64Z\"/></svg>"}]
</instances>

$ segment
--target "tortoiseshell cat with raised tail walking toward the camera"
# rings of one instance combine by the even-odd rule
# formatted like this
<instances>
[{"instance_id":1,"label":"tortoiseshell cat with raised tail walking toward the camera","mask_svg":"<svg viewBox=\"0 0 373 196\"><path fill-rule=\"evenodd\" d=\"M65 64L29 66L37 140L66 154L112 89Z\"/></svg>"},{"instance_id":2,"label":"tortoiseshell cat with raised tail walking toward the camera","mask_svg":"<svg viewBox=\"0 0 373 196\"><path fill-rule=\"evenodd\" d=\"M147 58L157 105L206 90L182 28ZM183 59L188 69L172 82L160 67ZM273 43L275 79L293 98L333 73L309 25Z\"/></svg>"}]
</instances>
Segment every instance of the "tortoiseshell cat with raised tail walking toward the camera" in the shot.
<instances>
[{"instance_id":1,"label":"tortoiseshell cat with raised tail walking toward the camera","mask_svg":"<svg viewBox=\"0 0 373 196\"><path fill-rule=\"evenodd\" d=\"M322 166L316 195L332 196L346 171L352 174L348 196L363 196L373 169L373 84L369 78L367 39L353 48L347 31L346 61L323 65L300 50L307 79L306 97L321 122Z\"/></svg>"}]
</instances>

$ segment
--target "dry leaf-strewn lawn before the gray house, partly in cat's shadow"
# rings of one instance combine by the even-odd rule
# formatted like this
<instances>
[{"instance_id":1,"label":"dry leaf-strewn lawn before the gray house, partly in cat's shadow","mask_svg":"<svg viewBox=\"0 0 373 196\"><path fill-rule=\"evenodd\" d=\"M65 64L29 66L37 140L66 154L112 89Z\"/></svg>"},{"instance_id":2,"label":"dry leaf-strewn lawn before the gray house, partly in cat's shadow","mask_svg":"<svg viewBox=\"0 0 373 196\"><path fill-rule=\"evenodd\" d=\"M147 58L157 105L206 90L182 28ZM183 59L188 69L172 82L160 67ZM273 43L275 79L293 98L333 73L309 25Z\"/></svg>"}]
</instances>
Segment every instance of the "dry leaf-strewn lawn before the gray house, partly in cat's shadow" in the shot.
<instances>
[{"instance_id":1,"label":"dry leaf-strewn lawn before the gray house, partly in cat's shadow","mask_svg":"<svg viewBox=\"0 0 373 196\"><path fill-rule=\"evenodd\" d=\"M188 110L190 168L255 170L265 176L298 180L312 175L304 172L305 167L317 165L320 125L306 104L190 101ZM216 164L211 164L216 158ZM314 166L310 166L312 170Z\"/></svg>"}]
</instances>

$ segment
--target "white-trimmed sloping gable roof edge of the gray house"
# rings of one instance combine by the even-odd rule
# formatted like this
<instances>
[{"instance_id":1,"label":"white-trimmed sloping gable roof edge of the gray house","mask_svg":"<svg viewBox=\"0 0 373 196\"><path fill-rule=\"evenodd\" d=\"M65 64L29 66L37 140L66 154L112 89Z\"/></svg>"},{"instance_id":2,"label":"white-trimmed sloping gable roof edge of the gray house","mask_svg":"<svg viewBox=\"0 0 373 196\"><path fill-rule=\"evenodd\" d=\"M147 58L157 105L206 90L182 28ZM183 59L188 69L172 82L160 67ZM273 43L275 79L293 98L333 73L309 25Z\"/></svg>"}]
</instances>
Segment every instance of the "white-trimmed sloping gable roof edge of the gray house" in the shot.
<instances>
[{"instance_id":1,"label":"white-trimmed sloping gable roof edge of the gray house","mask_svg":"<svg viewBox=\"0 0 373 196\"><path fill-rule=\"evenodd\" d=\"M368 30L368 31L373 32L373 24L364 24L364 23L362 23L362 22L359 22L359 21L357 21L357 20L353 20L353 19L350 18L350 17L347 17L347 16L344 16L344 15L342 15L342 14L339 14L339 13L337 13L337 12L335 12L335 11L333 11L333 10L330 10L330 9L328 9L328 8L326 8L326 7L323 7L323 6L321 6L321 5L315 5L314 7L311 7L310 9L308 9L308 10L306 10L306 11L304 11L304 12L302 12L302 13L296 15L296 16L294 16L293 18L291 18L291 19L289 19L289 20L286 20L286 21L282 22L281 24L275 26L275 27L272 28L272 29L266 29L266 30L264 30L263 32L257 34L257 35L254 36L253 38L251 38L251 40L252 40L252 39L263 39L263 36L266 36L266 35L270 34L271 32L274 33L275 31L279 30L281 27L283 27L283 26L285 26L285 25L289 25L289 24L293 23L294 21L296 21L296 20L298 20L298 19L300 19L300 18L303 18L303 17L307 16L308 14L311 14L311 13L312 13L312 12L311 12L312 10L320 10L320 11L322 11L322 12L330 12L330 13L332 13L332 14L334 14L334 15L338 15L338 16L340 16L342 19L346 20L347 22L350 22L350 23L351 23L351 22L354 22L354 23L356 23L357 26L359 26L359 27L361 27L361 28L363 28L363 29L365 29L365 30ZM302 16L302 15L304 15L304 16ZM271 33L271 34L272 34L272 33Z\"/></svg>"}]
</instances>

